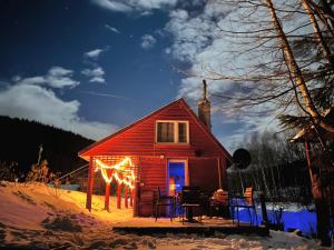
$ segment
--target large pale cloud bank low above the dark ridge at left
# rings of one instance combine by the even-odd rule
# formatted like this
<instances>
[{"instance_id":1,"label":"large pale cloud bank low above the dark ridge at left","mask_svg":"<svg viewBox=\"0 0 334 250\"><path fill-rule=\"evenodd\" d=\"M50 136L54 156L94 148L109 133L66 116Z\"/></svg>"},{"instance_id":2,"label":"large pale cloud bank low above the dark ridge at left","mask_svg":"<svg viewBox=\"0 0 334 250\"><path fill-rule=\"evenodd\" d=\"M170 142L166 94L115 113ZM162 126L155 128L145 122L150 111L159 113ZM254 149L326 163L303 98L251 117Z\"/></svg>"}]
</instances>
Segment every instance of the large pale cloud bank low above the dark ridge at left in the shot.
<instances>
[{"instance_id":1,"label":"large pale cloud bank low above the dark ridge at left","mask_svg":"<svg viewBox=\"0 0 334 250\"><path fill-rule=\"evenodd\" d=\"M61 69L55 67L48 73L53 73L57 78L66 72ZM96 140L117 129L115 124L87 121L79 117L80 102L61 100L52 89L46 88L51 84L43 79L45 77L17 78L17 81L7 82L6 88L0 90L0 114L36 120Z\"/></svg>"}]
</instances>

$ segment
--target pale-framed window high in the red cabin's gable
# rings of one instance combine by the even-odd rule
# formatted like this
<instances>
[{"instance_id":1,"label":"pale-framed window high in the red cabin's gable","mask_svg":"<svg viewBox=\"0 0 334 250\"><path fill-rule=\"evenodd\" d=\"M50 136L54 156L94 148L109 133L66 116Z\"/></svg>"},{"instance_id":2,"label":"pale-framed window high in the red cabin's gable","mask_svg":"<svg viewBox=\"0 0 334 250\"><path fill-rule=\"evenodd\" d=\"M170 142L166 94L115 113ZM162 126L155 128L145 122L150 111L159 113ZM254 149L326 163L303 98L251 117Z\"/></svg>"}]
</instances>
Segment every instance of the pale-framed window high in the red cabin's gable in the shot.
<instances>
[{"instance_id":1,"label":"pale-framed window high in the red cabin's gable","mask_svg":"<svg viewBox=\"0 0 334 250\"><path fill-rule=\"evenodd\" d=\"M189 143L188 121L157 121L157 143Z\"/></svg>"}]
</instances>

